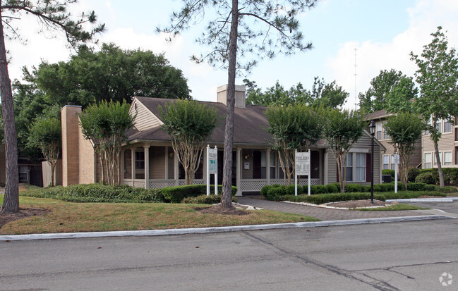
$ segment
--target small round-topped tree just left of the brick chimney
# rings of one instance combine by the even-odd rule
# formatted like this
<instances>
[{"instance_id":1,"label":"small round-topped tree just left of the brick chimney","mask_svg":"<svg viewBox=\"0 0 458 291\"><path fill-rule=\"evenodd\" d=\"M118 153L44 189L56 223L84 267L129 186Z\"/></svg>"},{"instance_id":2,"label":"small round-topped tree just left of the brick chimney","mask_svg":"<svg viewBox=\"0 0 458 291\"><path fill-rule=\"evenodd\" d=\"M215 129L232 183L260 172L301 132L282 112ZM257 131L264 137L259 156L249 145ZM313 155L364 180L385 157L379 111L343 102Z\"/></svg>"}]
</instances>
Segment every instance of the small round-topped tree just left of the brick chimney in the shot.
<instances>
[{"instance_id":1,"label":"small round-topped tree just left of the brick chimney","mask_svg":"<svg viewBox=\"0 0 458 291\"><path fill-rule=\"evenodd\" d=\"M51 166L51 184L54 186L54 171L61 149L61 120L57 118L39 118L30 128L29 143L41 149L44 159Z\"/></svg>"}]
</instances>

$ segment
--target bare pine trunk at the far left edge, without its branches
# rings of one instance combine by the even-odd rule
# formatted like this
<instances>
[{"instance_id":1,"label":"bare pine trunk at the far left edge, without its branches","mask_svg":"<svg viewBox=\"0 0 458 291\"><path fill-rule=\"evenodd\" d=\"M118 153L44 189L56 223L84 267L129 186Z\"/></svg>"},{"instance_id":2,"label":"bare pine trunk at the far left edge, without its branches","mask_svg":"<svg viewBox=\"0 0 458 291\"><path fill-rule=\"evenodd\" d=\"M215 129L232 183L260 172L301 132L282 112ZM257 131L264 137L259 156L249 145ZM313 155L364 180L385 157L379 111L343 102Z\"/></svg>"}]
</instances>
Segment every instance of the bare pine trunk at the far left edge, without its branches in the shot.
<instances>
[{"instance_id":1,"label":"bare pine trunk at the far left edge, without its branches","mask_svg":"<svg viewBox=\"0 0 458 291\"><path fill-rule=\"evenodd\" d=\"M0 19L1 11L0 11ZM18 171L18 141L16 125L14 124L13 94L11 80L8 75L8 62L6 61L6 48L4 27L0 21L0 94L1 110L4 120L5 132L5 159L6 159L6 185L4 204L1 213L15 213L19 211L19 171Z\"/></svg>"}]
</instances>

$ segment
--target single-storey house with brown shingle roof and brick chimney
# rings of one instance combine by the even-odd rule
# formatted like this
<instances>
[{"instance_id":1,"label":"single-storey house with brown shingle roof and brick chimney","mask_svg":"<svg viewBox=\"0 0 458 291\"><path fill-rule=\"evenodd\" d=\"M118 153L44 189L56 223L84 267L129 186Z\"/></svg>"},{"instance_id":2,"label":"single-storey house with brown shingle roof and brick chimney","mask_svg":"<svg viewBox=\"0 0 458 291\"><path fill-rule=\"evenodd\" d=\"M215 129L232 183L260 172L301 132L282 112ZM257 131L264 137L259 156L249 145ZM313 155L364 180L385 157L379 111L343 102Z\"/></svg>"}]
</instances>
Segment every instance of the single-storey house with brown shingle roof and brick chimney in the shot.
<instances>
[{"instance_id":1,"label":"single-storey house with brown shingle roof and brick chimney","mask_svg":"<svg viewBox=\"0 0 458 291\"><path fill-rule=\"evenodd\" d=\"M136 114L135 126L128 130L128 142L121 151L122 183L134 187L159 188L185 185L184 171L171 147L167 132L161 130L159 106L171 99L135 97L131 113ZM215 106L220 115L226 113L227 86L217 89L217 102L203 102ZM284 173L279 166L276 151L270 149L272 136L265 130L269 126L265 106L246 106L245 87L236 86L234 111L234 149L232 184L245 192L259 192L265 185L282 184ZM62 120L62 184L92 183L100 180L100 162L90 140L85 140L78 125L80 106L67 105L61 111ZM222 160L224 147L224 122L215 129L210 147L218 147L218 181L222 183ZM346 165L348 182L370 184L371 136L365 130L363 136L351 149ZM385 152L375 141L374 177L381 182L381 154ZM205 184L205 155L200 169L195 173L194 183ZM210 182L214 182L213 175ZM300 180L306 185L307 179ZM337 182L337 163L328 150L325 140L311 148L311 183L327 185Z\"/></svg>"}]
</instances>

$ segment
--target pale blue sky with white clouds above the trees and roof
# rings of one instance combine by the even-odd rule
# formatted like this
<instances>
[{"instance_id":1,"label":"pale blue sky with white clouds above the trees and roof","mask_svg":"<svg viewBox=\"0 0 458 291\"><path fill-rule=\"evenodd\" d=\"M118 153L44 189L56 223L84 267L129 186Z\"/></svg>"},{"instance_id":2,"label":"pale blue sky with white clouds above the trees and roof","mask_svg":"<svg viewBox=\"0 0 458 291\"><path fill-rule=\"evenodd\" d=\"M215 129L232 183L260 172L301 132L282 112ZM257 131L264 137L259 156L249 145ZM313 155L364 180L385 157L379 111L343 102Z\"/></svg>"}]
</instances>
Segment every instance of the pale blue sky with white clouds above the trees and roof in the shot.
<instances>
[{"instance_id":1,"label":"pale blue sky with white clouds above the trees and roof","mask_svg":"<svg viewBox=\"0 0 458 291\"><path fill-rule=\"evenodd\" d=\"M217 87L227 84L227 71L190 60L193 54L208 50L194 41L200 34L198 27L181 32L172 42L156 32L156 27L169 24L169 16L180 7L181 1L171 0L136 0L128 4L121 0L79 0L69 11L75 15L95 11L107 28L97 36L99 44L112 42L122 49L164 53L172 66L183 71L194 99L216 101ZM414 77L417 68L409 54L413 51L420 55L439 25L445 30L449 46L457 47L457 15L456 0L318 1L315 8L299 16L304 40L312 42L313 49L258 60L258 66L237 78L236 84L243 85L243 78L248 78L262 89L272 87L277 80L285 89L299 82L311 89L313 78L318 76L325 82L335 80L349 92L345 107L354 109L358 93L366 92L380 70L394 68ZM66 47L62 35L37 33L40 23L34 18L25 16L14 25L24 40L6 40L11 80L21 80L23 66L68 61L75 54Z\"/></svg>"}]
</instances>

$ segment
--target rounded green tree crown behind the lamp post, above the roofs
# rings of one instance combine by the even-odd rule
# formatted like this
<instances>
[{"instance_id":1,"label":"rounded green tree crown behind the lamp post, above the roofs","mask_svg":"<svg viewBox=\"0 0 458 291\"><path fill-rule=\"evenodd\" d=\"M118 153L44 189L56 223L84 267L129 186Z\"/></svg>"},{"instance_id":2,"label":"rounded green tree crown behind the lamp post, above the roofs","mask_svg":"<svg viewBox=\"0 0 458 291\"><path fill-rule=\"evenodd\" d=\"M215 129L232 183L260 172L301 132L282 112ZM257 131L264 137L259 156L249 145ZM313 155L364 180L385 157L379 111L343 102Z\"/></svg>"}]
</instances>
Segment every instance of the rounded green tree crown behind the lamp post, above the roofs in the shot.
<instances>
[{"instance_id":1,"label":"rounded green tree crown behind the lamp post, above the roofs","mask_svg":"<svg viewBox=\"0 0 458 291\"><path fill-rule=\"evenodd\" d=\"M365 93L359 94L359 107L366 113L382 109L388 112L411 110L411 100L418 94L411 77L401 71L380 70L380 73L370 81L370 87Z\"/></svg>"}]
</instances>

